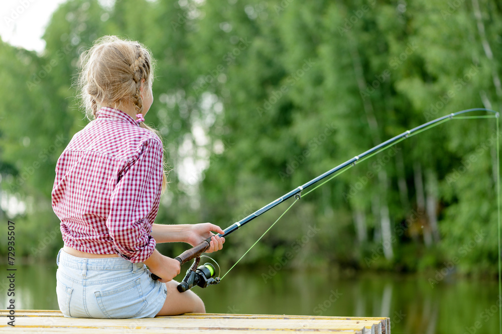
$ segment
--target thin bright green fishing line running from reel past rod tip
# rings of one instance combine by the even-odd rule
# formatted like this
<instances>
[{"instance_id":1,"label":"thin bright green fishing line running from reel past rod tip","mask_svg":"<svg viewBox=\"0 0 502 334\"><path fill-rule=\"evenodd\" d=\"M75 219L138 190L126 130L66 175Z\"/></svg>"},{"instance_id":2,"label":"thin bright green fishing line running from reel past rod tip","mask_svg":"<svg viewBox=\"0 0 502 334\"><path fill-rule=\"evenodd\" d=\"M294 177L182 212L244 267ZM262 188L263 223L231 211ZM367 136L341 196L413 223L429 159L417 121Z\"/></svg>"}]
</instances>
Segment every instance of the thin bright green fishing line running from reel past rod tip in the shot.
<instances>
[{"instance_id":1,"label":"thin bright green fishing line running from reel past rod tip","mask_svg":"<svg viewBox=\"0 0 502 334\"><path fill-rule=\"evenodd\" d=\"M469 111L488 111L487 109L469 109L469 110L464 110L462 112L469 112ZM490 110L491 111L491 110ZM461 112L459 112L461 113ZM458 115L458 113L457 113ZM499 290L499 298L502 298L502 260L501 260L501 245L500 245L500 221L501 221L501 217L500 217L500 171L499 171L499 129L498 129L498 113L496 113L495 115L480 115L480 116L457 116L455 114L451 114L449 115L449 117L441 120L441 121L438 121L438 122L435 122L435 123L432 123L430 125L427 125L425 126L424 128L422 129L418 129L414 132L409 132L409 134L407 134L406 136L402 137L402 138L399 138L398 140L392 142L392 143L389 143L383 147L381 147L380 149L376 150L375 152L371 153L371 154L368 154L360 159L357 159L356 161L354 161L352 164L346 166L345 168L342 168L340 171L338 171L337 173L335 173L333 176L329 177L327 180L325 180L324 182L320 183L319 185L315 186L314 188L312 188L311 190L309 190L308 192L306 192L305 194L301 194L298 193L297 195L295 195L295 198L296 200L293 201L293 203L279 216L279 218L277 218L277 220L260 236L260 238L258 238L258 240L255 241L255 243L249 247L249 249L230 267L230 269L228 269L228 271L221 277L221 279L223 279L223 277L226 276L226 274L228 274L228 272L230 272L230 270L233 269L233 267L235 267L237 265L237 263L240 262L240 260L242 260L242 258L251 250L253 249L253 247L255 247L255 245L265 236L265 234L267 234L271 229L272 227L274 227L274 225L286 214L286 212L288 212L292 207L293 205L296 204L296 202L301 199L302 196L306 196L308 194L310 194L312 191L314 191L315 189L319 188L320 186L328 183L329 181L331 181L332 179L334 179L335 177L337 177L338 175L342 174L343 172L347 171L348 169L350 169L351 167L355 166L356 162L357 163L360 163L366 159L369 159L371 157L373 157L374 155L376 154L379 154L395 145L397 145L398 143L402 142L403 140L407 139L407 138L410 138L412 136L415 136L415 135L418 135L419 133L422 133L426 130L429 130L429 129L432 129L440 124L443 124L451 119L484 119L484 118L495 118L496 119L496 130L497 130L497 152L496 152L496 156L497 156L497 219L498 219L498 290ZM427 123L426 123L427 124ZM381 144L382 145L382 144ZM500 334L502 334L502 307L499 308L499 322L500 322Z\"/></svg>"}]
</instances>

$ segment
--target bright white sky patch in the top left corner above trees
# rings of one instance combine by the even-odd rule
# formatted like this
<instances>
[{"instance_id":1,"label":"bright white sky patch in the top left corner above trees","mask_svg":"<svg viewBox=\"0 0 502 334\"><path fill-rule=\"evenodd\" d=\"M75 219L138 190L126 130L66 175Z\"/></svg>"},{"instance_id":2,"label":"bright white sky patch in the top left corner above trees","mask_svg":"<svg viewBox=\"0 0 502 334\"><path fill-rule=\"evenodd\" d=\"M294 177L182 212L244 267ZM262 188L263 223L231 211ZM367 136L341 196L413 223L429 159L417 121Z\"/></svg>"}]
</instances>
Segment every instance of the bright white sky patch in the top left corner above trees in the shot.
<instances>
[{"instance_id":1,"label":"bright white sky patch in the top left corner above trees","mask_svg":"<svg viewBox=\"0 0 502 334\"><path fill-rule=\"evenodd\" d=\"M0 6L0 37L4 42L41 52L42 40L52 13L67 0L3 0Z\"/></svg>"}]
</instances>

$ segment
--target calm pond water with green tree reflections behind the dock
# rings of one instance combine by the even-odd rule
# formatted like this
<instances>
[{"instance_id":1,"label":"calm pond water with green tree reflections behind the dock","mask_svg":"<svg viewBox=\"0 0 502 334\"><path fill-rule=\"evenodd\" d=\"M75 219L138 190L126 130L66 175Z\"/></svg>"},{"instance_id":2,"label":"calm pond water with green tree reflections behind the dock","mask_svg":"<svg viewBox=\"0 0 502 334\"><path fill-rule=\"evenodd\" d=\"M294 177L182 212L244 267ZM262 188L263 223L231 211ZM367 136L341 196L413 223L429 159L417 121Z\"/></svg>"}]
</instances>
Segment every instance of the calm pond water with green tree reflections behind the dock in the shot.
<instances>
[{"instance_id":1,"label":"calm pond water with green tree reflections behind the dock","mask_svg":"<svg viewBox=\"0 0 502 334\"><path fill-rule=\"evenodd\" d=\"M263 272L234 268L220 284L194 291L214 313L389 316L395 334L498 333L496 281L445 279L432 287L428 276L417 275L339 278L282 270L265 280ZM54 265L18 266L16 308L57 309L55 276ZM0 308L11 298L7 288L7 279L0 279Z\"/></svg>"}]
</instances>

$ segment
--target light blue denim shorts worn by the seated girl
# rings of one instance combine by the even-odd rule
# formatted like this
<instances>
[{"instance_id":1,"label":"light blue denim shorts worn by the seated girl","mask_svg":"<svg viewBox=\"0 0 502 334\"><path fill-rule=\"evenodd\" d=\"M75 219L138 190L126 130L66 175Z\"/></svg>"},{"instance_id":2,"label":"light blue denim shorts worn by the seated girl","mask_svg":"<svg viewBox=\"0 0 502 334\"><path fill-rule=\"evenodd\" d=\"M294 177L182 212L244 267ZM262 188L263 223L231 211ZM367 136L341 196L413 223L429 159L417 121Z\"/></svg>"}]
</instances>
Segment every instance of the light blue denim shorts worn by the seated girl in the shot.
<instances>
[{"instance_id":1,"label":"light blue denim shorts worn by the seated girl","mask_svg":"<svg viewBox=\"0 0 502 334\"><path fill-rule=\"evenodd\" d=\"M59 309L67 317L154 317L166 300L166 284L153 280L143 263L75 257L60 249L57 264Z\"/></svg>"}]
</instances>

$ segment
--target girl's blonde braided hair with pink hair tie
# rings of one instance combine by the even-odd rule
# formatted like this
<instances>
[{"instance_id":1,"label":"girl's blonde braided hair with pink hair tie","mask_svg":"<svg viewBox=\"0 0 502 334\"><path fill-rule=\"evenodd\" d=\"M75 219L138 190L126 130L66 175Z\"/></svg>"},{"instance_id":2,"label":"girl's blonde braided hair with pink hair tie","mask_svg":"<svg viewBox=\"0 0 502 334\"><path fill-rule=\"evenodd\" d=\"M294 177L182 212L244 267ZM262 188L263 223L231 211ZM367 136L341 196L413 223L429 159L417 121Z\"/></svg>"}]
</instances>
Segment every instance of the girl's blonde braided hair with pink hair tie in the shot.
<instances>
[{"instance_id":1,"label":"girl's blonde braided hair with pink hair tie","mask_svg":"<svg viewBox=\"0 0 502 334\"><path fill-rule=\"evenodd\" d=\"M116 36L104 36L80 56L78 90L85 115L89 120L97 117L101 107L117 109L119 105L132 104L136 113L143 113L140 88L144 82L152 85L155 60L149 50L136 41L122 40ZM142 128L159 132L144 122ZM167 166L164 165L162 191L167 184Z\"/></svg>"}]
</instances>

